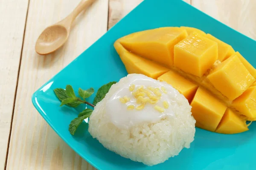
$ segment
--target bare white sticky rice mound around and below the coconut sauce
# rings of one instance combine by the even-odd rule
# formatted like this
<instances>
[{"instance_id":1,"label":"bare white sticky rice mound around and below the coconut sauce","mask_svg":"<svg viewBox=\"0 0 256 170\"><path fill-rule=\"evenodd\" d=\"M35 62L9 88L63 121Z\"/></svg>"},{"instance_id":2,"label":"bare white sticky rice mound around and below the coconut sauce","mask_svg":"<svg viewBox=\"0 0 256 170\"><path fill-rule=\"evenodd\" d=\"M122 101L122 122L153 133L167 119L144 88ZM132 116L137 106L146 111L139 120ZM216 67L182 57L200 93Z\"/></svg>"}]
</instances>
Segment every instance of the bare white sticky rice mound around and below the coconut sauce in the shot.
<instances>
[{"instance_id":1,"label":"bare white sticky rice mound around and below the coconut sauce","mask_svg":"<svg viewBox=\"0 0 256 170\"><path fill-rule=\"evenodd\" d=\"M195 119L188 100L179 92L171 96L176 101L170 103L175 119L166 116L157 122L143 122L129 129L120 129L111 122L106 115L106 102L127 82L127 77L124 77L112 85L94 108L89 120L89 133L93 138L108 150L148 166L177 156L184 147L189 148L195 136ZM173 91L177 90L173 88Z\"/></svg>"}]
</instances>

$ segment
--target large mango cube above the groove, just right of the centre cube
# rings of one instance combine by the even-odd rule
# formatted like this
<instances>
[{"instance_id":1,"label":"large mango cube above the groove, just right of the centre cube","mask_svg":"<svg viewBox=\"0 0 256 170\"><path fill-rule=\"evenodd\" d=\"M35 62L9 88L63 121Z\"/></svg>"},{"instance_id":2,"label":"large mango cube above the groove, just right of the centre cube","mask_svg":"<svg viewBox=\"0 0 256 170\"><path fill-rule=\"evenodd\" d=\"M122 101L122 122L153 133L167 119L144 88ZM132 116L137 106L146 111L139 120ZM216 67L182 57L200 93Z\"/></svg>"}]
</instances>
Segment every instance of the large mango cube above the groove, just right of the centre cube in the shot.
<instances>
[{"instance_id":1,"label":"large mango cube above the groove, just right of the centre cube","mask_svg":"<svg viewBox=\"0 0 256 170\"><path fill-rule=\"evenodd\" d=\"M255 81L236 55L218 65L207 78L230 100L240 96Z\"/></svg>"}]
</instances>

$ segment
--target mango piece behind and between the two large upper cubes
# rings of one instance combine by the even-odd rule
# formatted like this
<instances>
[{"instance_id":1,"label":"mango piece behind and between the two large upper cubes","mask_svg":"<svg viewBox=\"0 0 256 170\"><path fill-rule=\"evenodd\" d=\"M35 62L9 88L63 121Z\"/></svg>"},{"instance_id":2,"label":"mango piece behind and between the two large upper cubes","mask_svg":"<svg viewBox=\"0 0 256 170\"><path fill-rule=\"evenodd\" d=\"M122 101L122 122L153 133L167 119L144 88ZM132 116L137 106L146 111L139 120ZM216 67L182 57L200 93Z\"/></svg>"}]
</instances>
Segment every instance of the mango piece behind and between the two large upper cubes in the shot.
<instances>
[{"instance_id":1,"label":"mango piece behind and between the two large upper cubes","mask_svg":"<svg viewBox=\"0 0 256 170\"><path fill-rule=\"evenodd\" d=\"M207 34L206 37L218 43L218 60L221 62L235 53L235 50L231 47L231 45L228 45L218 38L213 37L211 34Z\"/></svg>"}]
</instances>

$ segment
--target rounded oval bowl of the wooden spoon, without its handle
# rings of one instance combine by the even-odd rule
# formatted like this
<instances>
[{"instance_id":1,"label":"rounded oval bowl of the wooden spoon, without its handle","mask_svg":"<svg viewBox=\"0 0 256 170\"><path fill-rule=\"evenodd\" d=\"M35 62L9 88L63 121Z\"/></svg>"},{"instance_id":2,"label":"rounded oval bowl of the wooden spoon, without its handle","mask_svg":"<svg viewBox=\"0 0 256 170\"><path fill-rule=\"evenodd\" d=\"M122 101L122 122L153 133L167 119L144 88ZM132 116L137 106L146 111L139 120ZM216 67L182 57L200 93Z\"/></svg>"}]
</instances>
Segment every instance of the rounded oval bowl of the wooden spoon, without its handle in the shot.
<instances>
[{"instance_id":1,"label":"rounded oval bowl of the wooden spoon, without its handle","mask_svg":"<svg viewBox=\"0 0 256 170\"><path fill-rule=\"evenodd\" d=\"M49 54L60 48L67 41L69 31L61 25L54 25L46 28L35 44L35 51L38 54Z\"/></svg>"}]
</instances>

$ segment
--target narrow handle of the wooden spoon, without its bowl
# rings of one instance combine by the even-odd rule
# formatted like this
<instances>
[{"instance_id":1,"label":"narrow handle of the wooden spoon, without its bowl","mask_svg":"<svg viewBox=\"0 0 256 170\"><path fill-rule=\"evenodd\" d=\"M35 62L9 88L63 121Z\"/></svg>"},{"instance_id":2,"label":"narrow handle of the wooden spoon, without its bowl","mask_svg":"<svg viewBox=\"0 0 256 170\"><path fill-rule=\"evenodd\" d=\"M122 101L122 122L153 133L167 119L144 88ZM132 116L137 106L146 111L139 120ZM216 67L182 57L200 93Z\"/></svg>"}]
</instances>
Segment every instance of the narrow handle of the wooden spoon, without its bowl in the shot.
<instances>
[{"instance_id":1,"label":"narrow handle of the wooden spoon, without its bowl","mask_svg":"<svg viewBox=\"0 0 256 170\"><path fill-rule=\"evenodd\" d=\"M61 20L59 23L65 26L66 28L69 28L75 18L78 14L80 14L81 11L87 9L95 0L81 0L81 2L76 6L76 8L63 20Z\"/></svg>"}]
</instances>

